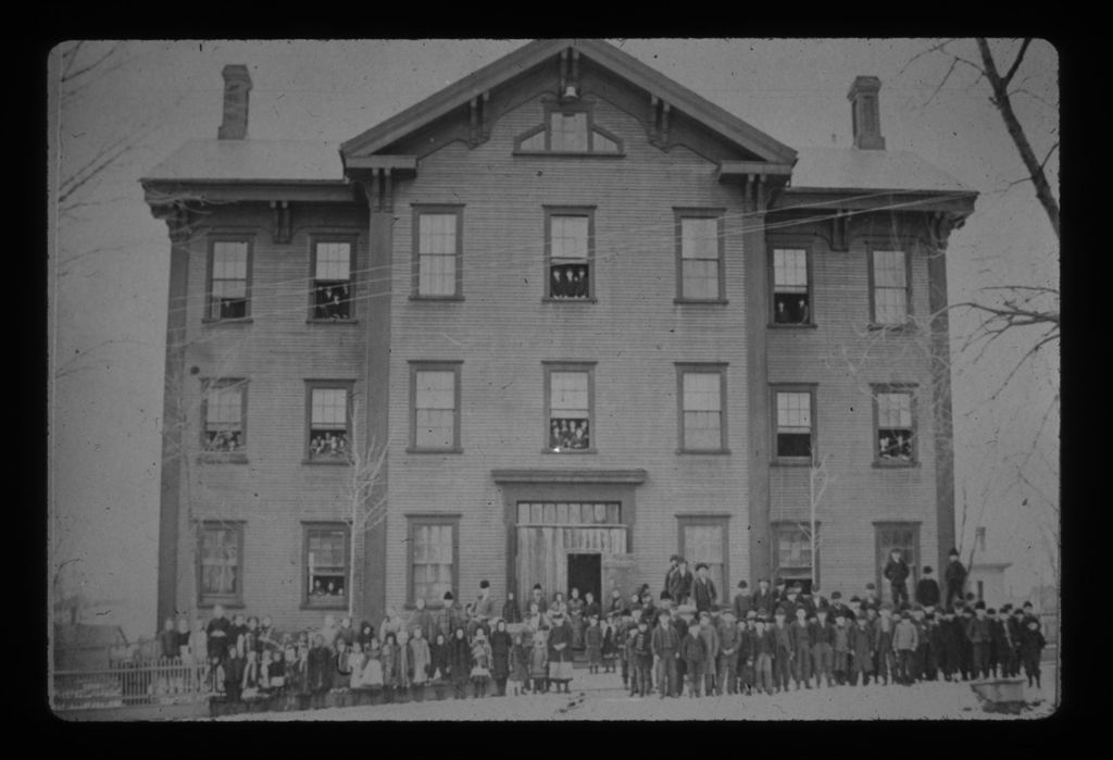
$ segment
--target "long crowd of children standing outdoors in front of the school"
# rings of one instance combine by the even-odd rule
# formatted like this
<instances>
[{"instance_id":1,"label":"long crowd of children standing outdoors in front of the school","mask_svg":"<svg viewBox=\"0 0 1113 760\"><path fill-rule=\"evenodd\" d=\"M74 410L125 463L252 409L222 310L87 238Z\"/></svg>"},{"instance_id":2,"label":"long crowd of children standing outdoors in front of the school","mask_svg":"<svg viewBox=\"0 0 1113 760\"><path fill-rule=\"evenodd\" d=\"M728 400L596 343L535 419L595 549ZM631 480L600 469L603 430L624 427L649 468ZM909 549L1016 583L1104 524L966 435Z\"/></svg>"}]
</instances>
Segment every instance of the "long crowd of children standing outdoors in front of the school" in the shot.
<instances>
[{"instance_id":1,"label":"long crowd of children standing outdoors in front of the school","mask_svg":"<svg viewBox=\"0 0 1113 760\"><path fill-rule=\"evenodd\" d=\"M159 644L165 658L208 663L227 699L286 694L302 707L321 707L333 690L380 693L383 702L420 701L426 687L437 699L450 690L457 699L568 693L578 652L590 673L620 672L637 699L1007 678L1022 669L1028 685L1041 685L1045 641L1031 602L998 613L961 589L944 602L930 567L909 602L906 570L885 570L892 602L873 583L844 602L838 591L828 599L762 579L752 592L740 581L720 604L707 566L692 574L674 555L656 601L649 584L629 598L613 590L605 609L590 593L550 600L535 585L524 614L510 593L500 615L484 581L466 606L450 592L436 610L424 600L407 614L387 609L377 628L325 615L317 629L279 634L269 616L229 620L216 606L193 629L168 619Z\"/></svg>"}]
</instances>

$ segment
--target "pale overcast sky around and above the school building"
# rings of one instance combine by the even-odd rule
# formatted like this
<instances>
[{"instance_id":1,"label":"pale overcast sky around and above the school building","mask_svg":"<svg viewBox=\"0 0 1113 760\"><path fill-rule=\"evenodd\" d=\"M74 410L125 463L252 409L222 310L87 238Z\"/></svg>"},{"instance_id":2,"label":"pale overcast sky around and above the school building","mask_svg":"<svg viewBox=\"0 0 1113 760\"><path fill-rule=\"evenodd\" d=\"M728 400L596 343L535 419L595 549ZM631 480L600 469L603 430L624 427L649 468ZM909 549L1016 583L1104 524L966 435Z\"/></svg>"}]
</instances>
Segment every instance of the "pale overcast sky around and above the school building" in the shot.
<instances>
[{"instance_id":1,"label":"pale overcast sky around and above the school building","mask_svg":"<svg viewBox=\"0 0 1113 760\"><path fill-rule=\"evenodd\" d=\"M122 65L87 77L75 96L58 98L52 86L55 180L116 139L131 146L75 195L78 207L58 218L50 251L53 544L77 560L70 570L87 595L125 600L129 635L155 623L169 265L166 226L151 218L138 178L181 142L216 137L227 63L250 69L250 138L341 141L525 42L125 43L109 59ZM935 92L951 59L913 61L932 40L612 42L794 148L848 146L847 89L857 75L879 77L887 147L915 151L982 194L952 235L951 302L1006 284L1057 287L1054 235L1031 184L1015 184L1023 166L985 81L959 63ZM92 60L107 46L89 43L85 55ZM1007 62L1017 49L993 47ZM977 60L973 42L953 49ZM1056 79L1055 50L1035 42L1014 107L1041 158L1058 140ZM1057 188L1057 154L1047 167ZM1046 571L1038 525L1050 502L1057 507L1057 347L994 397L1035 336L1017 334L975 361L957 352L974 326L972 315L953 316L956 490L971 504L967 532L987 526L991 552L1014 563L1008 581L1023 593Z\"/></svg>"}]
</instances>

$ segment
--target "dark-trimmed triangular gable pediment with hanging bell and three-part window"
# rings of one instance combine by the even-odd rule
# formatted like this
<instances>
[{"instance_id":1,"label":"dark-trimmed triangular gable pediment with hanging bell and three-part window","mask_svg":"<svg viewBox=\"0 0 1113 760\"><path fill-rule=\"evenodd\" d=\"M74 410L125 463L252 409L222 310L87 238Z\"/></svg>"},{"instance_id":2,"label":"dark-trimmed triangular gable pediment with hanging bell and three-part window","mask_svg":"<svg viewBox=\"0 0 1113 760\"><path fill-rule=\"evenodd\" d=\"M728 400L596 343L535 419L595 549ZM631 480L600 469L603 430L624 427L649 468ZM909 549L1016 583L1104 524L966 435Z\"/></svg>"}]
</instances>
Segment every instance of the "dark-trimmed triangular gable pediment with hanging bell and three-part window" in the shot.
<instances>
[{"instance_id":1,"label":"dark-trimmed triangular gable pediment with hanging bell and three-part window","mask_svg":"<svg viewBox=\"0 0 1113 760\"><path fill-rule=\"evenodd\" d=\"M565 97L569 86L574 97ZM351 166L353 159L375 154L422 155L453 140L474 147L487 138L503 113L539 93L554 106L539 113L532 131L516 136L516 151L549 152L554 145L561 150L572 140L571 152L621 155L622 144L614 131L591 118L590 103L601 98L639 119L648 140L666 151L682 145L715 161L790 165L796 159L791 148L600 40L540 40L523 46L347 140L341 155ZM588 116L577 117L577 112ZM569 115L555 118L560 122L555 142L553 113ZM415 146L423 149L415 150Z\"/></svg>"}]
</instances>

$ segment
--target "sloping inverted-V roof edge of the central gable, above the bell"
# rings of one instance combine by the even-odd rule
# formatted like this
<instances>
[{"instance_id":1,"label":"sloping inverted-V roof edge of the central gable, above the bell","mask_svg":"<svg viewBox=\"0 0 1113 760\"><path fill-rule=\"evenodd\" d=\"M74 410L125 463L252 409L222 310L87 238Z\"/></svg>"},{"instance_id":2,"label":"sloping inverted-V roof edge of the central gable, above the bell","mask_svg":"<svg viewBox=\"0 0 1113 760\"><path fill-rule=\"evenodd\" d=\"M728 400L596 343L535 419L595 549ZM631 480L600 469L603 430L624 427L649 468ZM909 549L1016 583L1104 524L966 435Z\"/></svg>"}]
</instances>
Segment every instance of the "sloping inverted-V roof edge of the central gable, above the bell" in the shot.
<instances>
[{"instance_id":1,"label":"sloping inverted-V roof edge of the central gable, above the bell","mask_svg":"<svg viewBox=\"0 0 1113 760\"><path fill-rule=\"evenodd\" d=\"M579 50L595 63L614 72L696 119L723 138L752 151L767 161L791 164L796 151L769 135L751 127L737 116L672 81L633 56L602 40L536 40L499 60L473 71L463 79L400 111L380 125L341 145L344 158L367 156L396 142L406 135L460 108L472 98L543 63L565 48Z\"/></svg>"}]
</instances>

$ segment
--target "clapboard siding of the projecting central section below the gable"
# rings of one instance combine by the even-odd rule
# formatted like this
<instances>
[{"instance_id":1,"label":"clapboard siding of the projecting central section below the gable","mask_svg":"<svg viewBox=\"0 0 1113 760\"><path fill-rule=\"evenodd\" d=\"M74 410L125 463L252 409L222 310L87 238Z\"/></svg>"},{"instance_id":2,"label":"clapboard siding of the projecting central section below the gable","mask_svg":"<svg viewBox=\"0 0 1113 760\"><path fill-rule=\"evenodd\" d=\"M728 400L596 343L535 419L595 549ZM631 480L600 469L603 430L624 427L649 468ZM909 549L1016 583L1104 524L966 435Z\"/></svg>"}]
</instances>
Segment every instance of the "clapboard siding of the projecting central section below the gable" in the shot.
<instances>
[{"instance_id":1,"label":"clapboard siding of the projecting central section below the gable","mask_svg":"<svg viewBox=\"0 0 1113 760\"><path fill-rule=\"evenodd\" d=\"M678 147L650 146L641 122L599 100L594 122L624 142L624 158L512 156L514 138L542 121L524 100L470 149L452 142L395 188L391 517L387 566L406 562L407 512L460 512L467 547L460 584L481 579L505 592L506 525L491 471L512 467L631 468L637 487L631 544L647 580L676 551L676 515L721 511L731 521L732 567L748 563L746 534L746 340L741 196L715 164ZM500 108L495 103L493 110ZM463 302L410 300L412 204L463 204ZM594 304L543 303L544 205L594 206ZM730 304L676 305L674 207L725 209ZM452 455L405 454L408 362L462 359L461 445ZM543 361L595 362L597 454L542 452ZM730 455L678 455L677 362L727 363ZM551 592L555 589L548 589ZM405 574L387 579L388 603L406 601Z\"/></svg>"}]
</instances>

